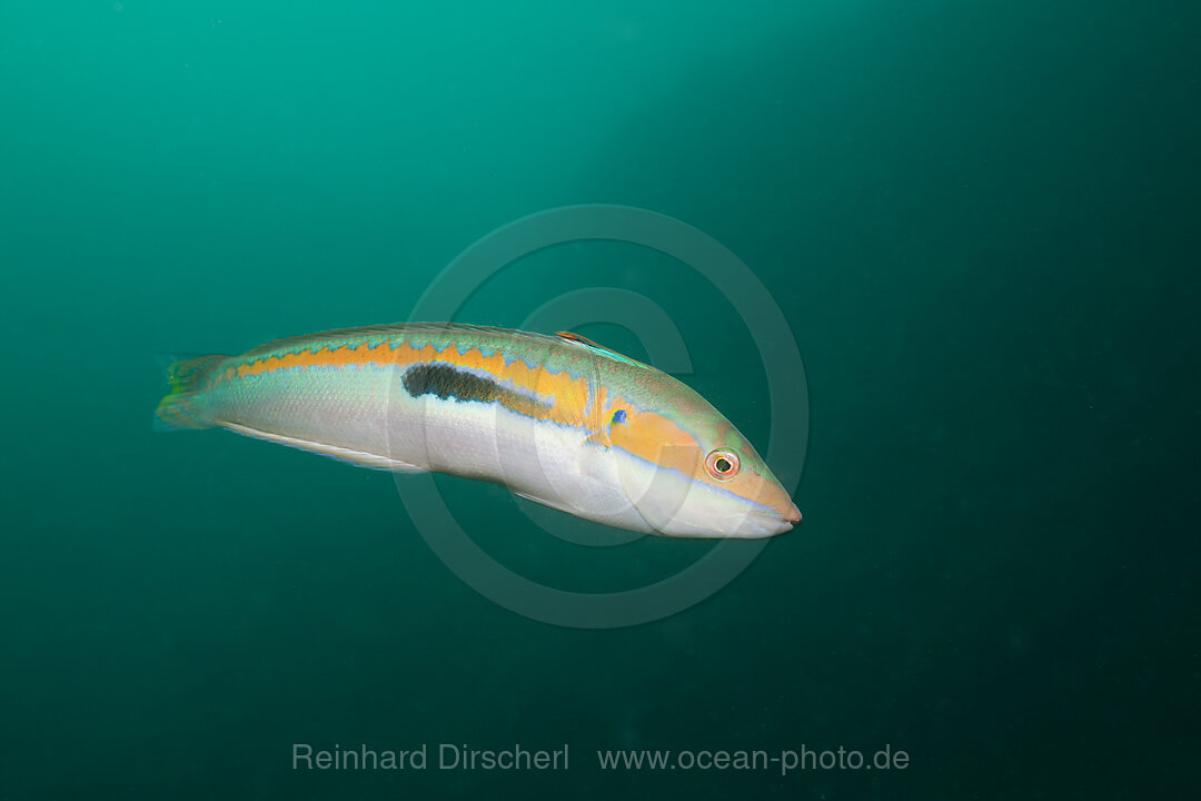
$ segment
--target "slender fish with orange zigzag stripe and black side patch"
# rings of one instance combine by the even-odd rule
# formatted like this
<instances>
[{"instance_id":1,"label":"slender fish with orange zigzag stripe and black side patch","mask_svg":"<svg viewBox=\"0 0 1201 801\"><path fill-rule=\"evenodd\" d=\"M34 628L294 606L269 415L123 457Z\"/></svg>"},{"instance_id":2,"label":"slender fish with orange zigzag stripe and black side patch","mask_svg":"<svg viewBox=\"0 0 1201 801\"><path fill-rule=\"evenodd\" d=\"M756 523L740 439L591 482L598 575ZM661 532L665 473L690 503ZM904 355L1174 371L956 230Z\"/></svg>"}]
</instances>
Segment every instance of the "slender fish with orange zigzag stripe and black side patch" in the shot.
<instances>
[{"instance_id":1,"label":"slender fish with orange zigzag stripe and black side patch","mask_svg":"<svg viewBox=\"0 0 1201 801\"><path fill-rule=\"evenodd\" d=\"M441 472L615 528L763 538L801 513L683 382L570 331L349 328L180 359L156 410L354 465Z\"/></svg>"}]
</instances>

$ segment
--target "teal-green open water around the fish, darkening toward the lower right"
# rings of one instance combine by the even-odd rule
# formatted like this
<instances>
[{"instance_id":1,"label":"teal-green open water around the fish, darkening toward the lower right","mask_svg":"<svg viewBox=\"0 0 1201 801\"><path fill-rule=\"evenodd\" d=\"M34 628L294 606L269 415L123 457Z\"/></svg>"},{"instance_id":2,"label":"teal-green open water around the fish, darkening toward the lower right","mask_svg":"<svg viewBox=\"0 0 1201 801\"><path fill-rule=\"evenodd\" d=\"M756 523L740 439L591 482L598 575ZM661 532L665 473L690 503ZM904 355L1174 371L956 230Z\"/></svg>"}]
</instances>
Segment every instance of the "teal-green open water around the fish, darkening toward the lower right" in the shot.
<instances>
[{"instance_id":1,"label":"teal-green open water around the fish, darkening toward the lower right","mask_svg":"<svg viewBox=\"0 0 1201 801\"><path fill-rule=\"evenodd\" d=\"M0 799L1195 784L1199 35L1172 2L4 4ZM548 626L448 569L387 474L153 431L156 354L405 319L480 238L581 203L713 237L805 359L805 522L703 603ZM766 442L799 377L661 253L543 250L456 319L594 287L658 304L681 377ZM710 549L574 545L440 486L545 586ZM570 766L292 765L443 742ZM908 766L596 759L885 745Z\"/></svg>"}]
</instances>

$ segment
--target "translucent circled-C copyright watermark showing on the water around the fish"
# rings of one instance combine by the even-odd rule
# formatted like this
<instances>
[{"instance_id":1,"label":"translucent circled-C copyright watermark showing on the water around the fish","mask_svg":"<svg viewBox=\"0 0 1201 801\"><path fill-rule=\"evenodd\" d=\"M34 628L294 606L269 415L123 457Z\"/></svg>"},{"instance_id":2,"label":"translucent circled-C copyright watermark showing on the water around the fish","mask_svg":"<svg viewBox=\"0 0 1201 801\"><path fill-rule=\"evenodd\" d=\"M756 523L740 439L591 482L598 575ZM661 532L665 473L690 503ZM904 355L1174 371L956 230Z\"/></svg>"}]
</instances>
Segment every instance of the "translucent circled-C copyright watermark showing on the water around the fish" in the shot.
<instances>
[{"instance_id":1,"label":"translucent circled-C copyright watermark showing on the water around the fish","mask_svg":"<svg viewBox=\"0 0 1201 801\"><path fill-rule=\"evenodd\" d=\"M709 280L734 307L767 376L771 434L766 460L784 489L794 492L805 465L809 416L796 339L754 273L722 244L679 220L623 205L573 205L522 217L478 240L447 265L417 301L410 321L454 321L489 279L518 259L556 245L594 240L665 253ZM626 289L591 287L545 299L522 328L551 334L587 323L628 329L643 342L650 363L664 372L692 371L685 340L670 317L651 299ZM396 489L422 537L455 575L494 603L555 626L620 628L668 617L728 585L767 544L766 539L723 539L685 569L653 584L616 592L572 592L520 575L480 548L450 513L432 474L398 474ZM608 528L580 536L561 525L561 513L522 504L534 525L576 545L621 545L643 537Z\"/></svg>"}]
</instances>

